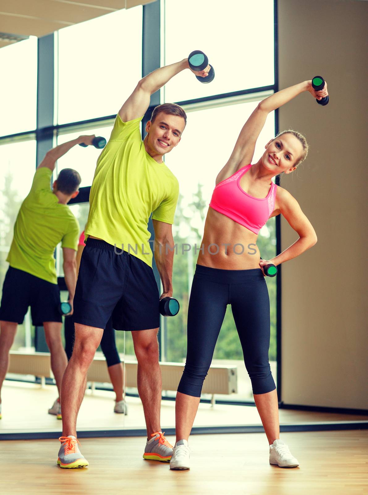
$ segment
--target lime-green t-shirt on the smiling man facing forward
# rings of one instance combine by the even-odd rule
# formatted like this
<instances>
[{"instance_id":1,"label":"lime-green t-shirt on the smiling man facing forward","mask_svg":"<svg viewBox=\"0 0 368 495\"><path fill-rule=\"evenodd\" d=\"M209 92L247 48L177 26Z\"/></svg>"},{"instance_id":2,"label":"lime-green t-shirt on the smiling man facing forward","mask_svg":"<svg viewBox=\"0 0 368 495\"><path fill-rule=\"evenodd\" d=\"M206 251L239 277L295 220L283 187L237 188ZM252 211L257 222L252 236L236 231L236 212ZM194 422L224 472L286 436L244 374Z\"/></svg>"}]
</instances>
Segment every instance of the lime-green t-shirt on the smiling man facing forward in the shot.
<instances>
[{"instance_id":1,"label":"lime-green t-shirt on the smiling man facing forward","mask_svg":"<svg viewBox=\"0 0 368 495\"><path fill-rule=\"evenodd\" d=\"M111 137L97 160L90 193L88 235L122 248L152 266L147 223L174 223L179 183L165 163L145 150L139 124L116 116ZM129 247L130 245L130 247Z\"/></svg>"}]
</instances>

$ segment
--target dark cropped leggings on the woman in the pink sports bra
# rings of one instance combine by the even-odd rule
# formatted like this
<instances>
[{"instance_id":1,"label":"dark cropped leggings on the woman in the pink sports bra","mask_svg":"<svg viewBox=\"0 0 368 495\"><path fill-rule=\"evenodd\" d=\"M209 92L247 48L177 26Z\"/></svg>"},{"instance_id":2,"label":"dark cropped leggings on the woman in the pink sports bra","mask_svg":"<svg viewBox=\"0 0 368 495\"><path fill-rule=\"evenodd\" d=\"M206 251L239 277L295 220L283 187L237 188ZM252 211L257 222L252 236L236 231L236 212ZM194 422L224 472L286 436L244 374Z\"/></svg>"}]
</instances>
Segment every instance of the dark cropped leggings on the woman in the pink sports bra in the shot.
<instances>
[{"instance_id":1,"label":"dark cropped leggings on the woman in the pink sports bra","mask_svg":"<svg viewBox=\"0 0 368 495\"><path fill-rule=\"evenodd\" d=\"M262 270L220 270L197 265L188 307L186 363L178 392L200 397L228 304L253 394L276 389L268 357L270 299Z\"/></svg>"}]
</instances>

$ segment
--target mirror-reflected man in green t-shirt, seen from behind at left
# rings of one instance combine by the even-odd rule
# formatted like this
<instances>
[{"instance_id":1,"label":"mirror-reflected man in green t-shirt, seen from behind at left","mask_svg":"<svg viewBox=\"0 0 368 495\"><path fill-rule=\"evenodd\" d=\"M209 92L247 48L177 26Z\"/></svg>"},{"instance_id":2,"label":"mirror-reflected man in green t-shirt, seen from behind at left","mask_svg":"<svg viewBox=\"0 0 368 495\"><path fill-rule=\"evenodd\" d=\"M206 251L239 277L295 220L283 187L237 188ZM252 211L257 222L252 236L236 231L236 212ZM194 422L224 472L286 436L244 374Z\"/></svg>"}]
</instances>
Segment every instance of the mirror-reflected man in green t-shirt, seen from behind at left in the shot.
<instances>
[{"instance_id":1,"label":"mirror-reflected man in green t-shirt, seen from behind at left","mask_svg":"<svg viewBox=\"0 0 368 495\"><path fill-rule=\"evenodd\" d=\"M61 379L67 358L61 342L60 293L57 285L54 250L61 242L65 283L73 312L76 284L76 251L79 224L67 203L79 192L81 177L73 169L61 170L50 181L55 163L78 144L92 145L94 136L80 136L50 149L36 169L31 190L24 199L14 225L14 236L6 261L9 268L2 287L0 307L0 391L8 368L9 350L18 324L31 306L33 325L44 325L51 354L51 369L60 396ZM60 399L49 409L60 415ZM1 400L0 400L1 417Z\"/></svg>"}]
</instances>

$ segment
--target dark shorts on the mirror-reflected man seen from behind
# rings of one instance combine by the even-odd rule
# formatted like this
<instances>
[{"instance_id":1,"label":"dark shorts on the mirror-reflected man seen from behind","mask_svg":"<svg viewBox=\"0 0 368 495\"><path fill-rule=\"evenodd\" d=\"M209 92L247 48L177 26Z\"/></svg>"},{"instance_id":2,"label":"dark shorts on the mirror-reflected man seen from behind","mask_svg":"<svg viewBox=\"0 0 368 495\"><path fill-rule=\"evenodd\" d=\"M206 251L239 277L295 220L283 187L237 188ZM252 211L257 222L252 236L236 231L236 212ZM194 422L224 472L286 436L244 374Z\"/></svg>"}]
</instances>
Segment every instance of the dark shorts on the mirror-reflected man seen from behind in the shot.
<instances>
[{"instance_id":1,"label":"dark shorts on the mirror-reflected man seen from behind","mask_svg":"<svg viewBox=\"0 0 368 495\"><path fill-rule=\"evenodd\" d=\"M44 321L61 322L59 304L57 284L9 266L2 286L0 320L21 324L31 306L33 325L42 326Z\"/></svg>"}]
</instances>

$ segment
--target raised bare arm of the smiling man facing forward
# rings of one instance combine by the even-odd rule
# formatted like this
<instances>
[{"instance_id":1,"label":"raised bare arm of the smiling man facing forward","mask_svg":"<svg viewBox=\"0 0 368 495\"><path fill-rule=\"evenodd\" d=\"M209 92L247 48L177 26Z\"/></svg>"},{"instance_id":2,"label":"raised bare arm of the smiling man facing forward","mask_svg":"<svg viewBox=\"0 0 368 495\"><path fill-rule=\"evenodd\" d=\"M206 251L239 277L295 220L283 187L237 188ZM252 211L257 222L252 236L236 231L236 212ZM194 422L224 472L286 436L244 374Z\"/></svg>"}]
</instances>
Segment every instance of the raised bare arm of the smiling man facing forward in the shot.
<instances>
[{"instance_id":1,"label":"raised bare arm of the smiling man facing forward","mask_svg":"<svg viewBox=\"0 0 368 495\"><path fill-rule=\"evenodd\" d=\"M189 69L196 76L207 77L210 66L208 65L204 70L196 72L189 68L188 59L184 58L180 62L154 70L138 82L136 89L120 108L119 115L122 121L129 122L129 120L144 115L149 107L151 95L184 69Z\"/></svg>"}]
</instances>

